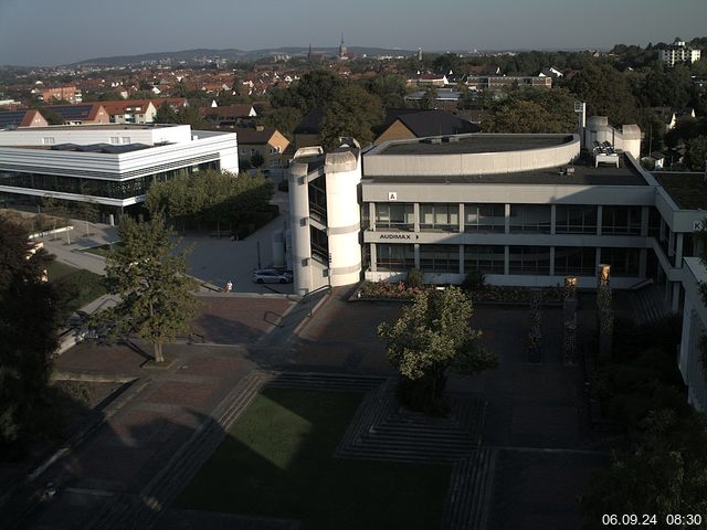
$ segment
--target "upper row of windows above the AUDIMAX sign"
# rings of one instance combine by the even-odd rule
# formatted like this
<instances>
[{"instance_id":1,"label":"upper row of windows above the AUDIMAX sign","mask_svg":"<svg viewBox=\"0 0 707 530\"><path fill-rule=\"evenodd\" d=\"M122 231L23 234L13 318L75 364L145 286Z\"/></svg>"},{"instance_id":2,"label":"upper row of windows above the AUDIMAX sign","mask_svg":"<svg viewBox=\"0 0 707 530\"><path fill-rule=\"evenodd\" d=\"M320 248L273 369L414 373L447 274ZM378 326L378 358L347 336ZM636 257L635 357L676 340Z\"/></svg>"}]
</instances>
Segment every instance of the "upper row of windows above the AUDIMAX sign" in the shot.
<instances>
[{"instance_id":1,"label":"upper row of windows above the AUDIMAX sign","mask_svg":"<svg viewBox=\"0 0 707 530\"><path fill-rule=\"evenodd\" d=\"M367 210L365 208L365 210ZM464 232L505 232L505 204L464 204ZM460 231L457 203L421 203L421 231ZM601 233L604 235L640 235L641 206L602 206ZM551 232L552 214L549 204L510 204L508 219L511 233ZM376 203L378 230L413 231L412 203ZM597 234L598 208L593 205L560 205L555 211L555 232L558 234Z\"/></svg>"}]
</instances>

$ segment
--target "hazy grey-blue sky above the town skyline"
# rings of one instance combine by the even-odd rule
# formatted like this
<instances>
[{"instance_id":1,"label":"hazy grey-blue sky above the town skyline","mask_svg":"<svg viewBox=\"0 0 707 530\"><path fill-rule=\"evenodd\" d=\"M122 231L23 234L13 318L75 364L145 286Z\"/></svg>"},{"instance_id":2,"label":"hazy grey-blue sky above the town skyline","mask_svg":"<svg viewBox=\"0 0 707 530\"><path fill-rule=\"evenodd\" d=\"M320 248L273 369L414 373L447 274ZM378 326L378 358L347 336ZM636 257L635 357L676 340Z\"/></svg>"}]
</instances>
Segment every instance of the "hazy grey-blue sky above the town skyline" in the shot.
<instances>
[{"instance_id":1,"label":"hazy grey-blue sky above the town skyline","mask_svg":"<svg viewBox=\"0 0 707 530\"><path fill-rule=\"evenodd\" d=\"M0 64L194 47L611 47L707 35L707 0L0 0Z\"/></svg>"}]
</instances>

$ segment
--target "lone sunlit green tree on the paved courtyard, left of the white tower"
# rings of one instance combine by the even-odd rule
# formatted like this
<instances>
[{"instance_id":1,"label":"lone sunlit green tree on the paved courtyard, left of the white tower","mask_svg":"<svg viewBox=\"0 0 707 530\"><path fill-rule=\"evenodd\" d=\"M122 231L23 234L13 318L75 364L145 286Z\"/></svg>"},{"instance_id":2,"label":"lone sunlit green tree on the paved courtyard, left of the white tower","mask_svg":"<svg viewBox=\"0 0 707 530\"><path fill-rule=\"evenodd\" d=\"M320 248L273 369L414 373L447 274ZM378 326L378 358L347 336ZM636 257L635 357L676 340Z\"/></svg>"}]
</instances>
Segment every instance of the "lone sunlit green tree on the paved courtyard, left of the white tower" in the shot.
<instances>
[{"instance_id":1,"label":"lone sunlit green tree on the paved courtyard, left of the white tower","mask_svg":"<svg viewBox=\"0 0 707 530\"><path fill-rule=\"evenodd\" d=\"M137 333L162 362L162 346L186 331L194 316L198 283L187 276L187 255L175 253L173 233L161 215L138 223L124 218L118 226L124 246L106 257L108 293L120 301L102 311L98 321L113 335Z\"/></svg>"}]
</instances>

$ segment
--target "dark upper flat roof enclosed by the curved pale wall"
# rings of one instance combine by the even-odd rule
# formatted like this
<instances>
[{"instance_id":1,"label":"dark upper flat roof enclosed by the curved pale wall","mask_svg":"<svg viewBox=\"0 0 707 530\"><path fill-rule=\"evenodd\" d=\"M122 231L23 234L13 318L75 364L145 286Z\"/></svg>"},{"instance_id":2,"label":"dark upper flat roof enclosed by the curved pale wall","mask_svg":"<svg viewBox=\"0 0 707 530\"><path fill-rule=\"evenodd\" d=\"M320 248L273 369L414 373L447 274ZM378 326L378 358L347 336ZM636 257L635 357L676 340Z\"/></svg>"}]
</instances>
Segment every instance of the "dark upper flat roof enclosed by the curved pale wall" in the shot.
<instances>
[{"instance_id":1,"label":"dark upper flat roof enclosed by the curved pale wall","mask_svg":"<svg viewBox=\"0 0 707 530\"><path fill-rule=\"evenodd\" d=\"M393 142L370 155L467 155L545 149L569 144L572 135L483 135L454 136L456 141L432 144L429 139Z\"/></svg>"}]
</instances>

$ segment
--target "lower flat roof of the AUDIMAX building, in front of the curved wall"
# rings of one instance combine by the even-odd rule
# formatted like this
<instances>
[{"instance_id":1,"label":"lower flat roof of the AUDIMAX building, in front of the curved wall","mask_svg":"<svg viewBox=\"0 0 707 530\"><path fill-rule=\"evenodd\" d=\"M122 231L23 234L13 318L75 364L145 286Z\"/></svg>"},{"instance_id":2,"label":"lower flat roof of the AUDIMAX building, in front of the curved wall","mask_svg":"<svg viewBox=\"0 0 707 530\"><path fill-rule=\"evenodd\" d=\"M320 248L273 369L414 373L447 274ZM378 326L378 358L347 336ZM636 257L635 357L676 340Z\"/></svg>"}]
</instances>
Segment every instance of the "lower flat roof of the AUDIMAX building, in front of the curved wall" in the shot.
<instances>
[{"instance_id":1,"label":"lower flat roof of the AUDIMAX building, in front of the curved wall","mask_svg":"<svg viewBox=\"0 0 707 530\"><path fill-rule=\"evenodd\" d=\"M439 146L434 146L439 147ZM574 168L574 174L564 174L567 167ZM487 173L463 176L374 176L366 174L363 180L374 183L410 183L410 184L552 184L552 186L648 186L641 172L621 156L620 167L599 166L595 168L588 160L580 159L572 166L561 166L532 171L514 173Z\"/></svg>"}]
</instances>

